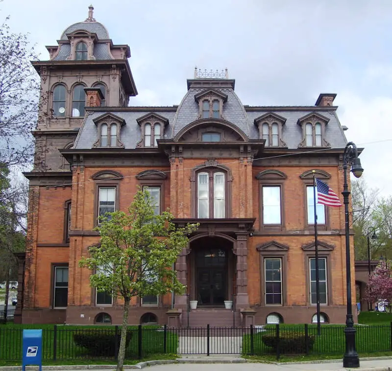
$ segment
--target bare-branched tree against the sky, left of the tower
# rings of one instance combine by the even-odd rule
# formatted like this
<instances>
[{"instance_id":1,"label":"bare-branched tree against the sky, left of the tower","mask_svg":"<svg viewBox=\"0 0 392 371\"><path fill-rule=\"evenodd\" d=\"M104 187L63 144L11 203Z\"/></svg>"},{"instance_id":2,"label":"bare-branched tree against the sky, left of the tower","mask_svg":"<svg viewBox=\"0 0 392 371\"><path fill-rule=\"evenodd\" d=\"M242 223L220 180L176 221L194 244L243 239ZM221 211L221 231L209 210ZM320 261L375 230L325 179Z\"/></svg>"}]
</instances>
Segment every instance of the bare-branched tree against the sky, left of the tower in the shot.
<instances>
[{"instance_id":1,"label":"bare-branched tree against the sky, left of the tower","mask_svg":"<svg viewBox=\"0 0 392 371\"><path fill-rule=\"evenodd\" d=\"M8 20L8 18L7 18ZM38 60L26 35L0 25L0 162L30 163L34 153L40 85L30 60ZM41 100L43 97L41 97Z\"/></svg>"}]
</instances>

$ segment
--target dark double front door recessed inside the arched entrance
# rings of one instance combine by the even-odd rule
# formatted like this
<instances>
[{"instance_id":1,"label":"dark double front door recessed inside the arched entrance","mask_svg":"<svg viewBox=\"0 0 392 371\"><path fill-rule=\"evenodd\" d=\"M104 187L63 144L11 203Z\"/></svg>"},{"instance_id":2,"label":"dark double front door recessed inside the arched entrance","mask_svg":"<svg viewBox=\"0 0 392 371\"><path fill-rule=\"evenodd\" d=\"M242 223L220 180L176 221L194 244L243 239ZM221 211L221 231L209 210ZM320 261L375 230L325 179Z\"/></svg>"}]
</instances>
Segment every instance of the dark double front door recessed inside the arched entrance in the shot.
<instances>
[{"instance_id":1,"label":"dark double front door recessed inside the arched entrance","mask_svg":"<svg viewBox=\"0 0 392 371\"><path fill-rule=\"evenodd\" d=\"M227 254L224 249L200 249L196 253L198 305L223 305L227 300Z\"/></svg>"}]
</instances>

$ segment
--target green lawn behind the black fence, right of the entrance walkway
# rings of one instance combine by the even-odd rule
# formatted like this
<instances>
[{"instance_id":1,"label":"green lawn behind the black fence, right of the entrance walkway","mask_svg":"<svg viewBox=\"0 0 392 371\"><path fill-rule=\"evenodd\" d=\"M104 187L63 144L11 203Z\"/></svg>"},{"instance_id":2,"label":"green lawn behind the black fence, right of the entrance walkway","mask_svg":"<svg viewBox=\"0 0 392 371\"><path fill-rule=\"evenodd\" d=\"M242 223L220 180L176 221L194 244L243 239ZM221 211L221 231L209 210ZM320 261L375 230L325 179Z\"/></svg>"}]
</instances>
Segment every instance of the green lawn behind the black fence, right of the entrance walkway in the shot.
<instances>
[{"instance_id":1,"label":"green lawn behind the black fence, right of the entrance walkway","mask_svg":"<svg viewBox=\"0 0 392 371\"><path fill-rule=\"evenodd\" d=\"M280 325L280 336L295 337L305 335L304 325ZM391 352L391 326L389 325L356 325L356 348L358 353ZM317 335L317 326L308 326L308 335L314 339L310 356L342 355L345 350L344 325L322 325L321 334ZM276 337L276 326L266 326L265 331L254 334L253 354L258 356L274 356L276 351L263 342L263 336ZM244 336L243 354L251 354L250 334ZM391 354L391 353L389 353Z\"/></svg>"}]
</instances>

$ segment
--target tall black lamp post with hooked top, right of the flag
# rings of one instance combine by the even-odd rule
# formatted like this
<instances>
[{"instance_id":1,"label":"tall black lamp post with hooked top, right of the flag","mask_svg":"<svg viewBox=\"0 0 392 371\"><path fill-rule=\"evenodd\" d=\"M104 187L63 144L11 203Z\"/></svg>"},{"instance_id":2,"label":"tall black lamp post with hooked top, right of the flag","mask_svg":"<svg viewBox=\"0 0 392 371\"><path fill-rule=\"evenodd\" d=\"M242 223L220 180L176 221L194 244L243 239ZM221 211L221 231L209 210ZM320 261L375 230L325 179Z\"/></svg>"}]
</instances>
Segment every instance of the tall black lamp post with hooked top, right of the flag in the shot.
<instances>
[{"instance_id":1,"label":"tall black lamp post with hooked top, right of the flag","mask_svg":"<svg viewBox=\"0 0 392 371\"><path fill-rule=\"evenodd\" d=\"M350 191L347 184L347 164L351 165L351 172L356 178L359 178L364 169L361 167L361 161L358 158L357 146L353 142L348 142L343 152L343 204L344 204L344 224L345 224L345 242L346 242L346 286L347 286L347 310L346 310L346 326L344 327L344 335L346 340L346 348L343 355L343 367L359 367L359 357L355 348L354 321L352 318L351 304L351 260L350 260L350 231L349 231L349 214L348 214L348 196Z\"/></svg>"}]
</instances>

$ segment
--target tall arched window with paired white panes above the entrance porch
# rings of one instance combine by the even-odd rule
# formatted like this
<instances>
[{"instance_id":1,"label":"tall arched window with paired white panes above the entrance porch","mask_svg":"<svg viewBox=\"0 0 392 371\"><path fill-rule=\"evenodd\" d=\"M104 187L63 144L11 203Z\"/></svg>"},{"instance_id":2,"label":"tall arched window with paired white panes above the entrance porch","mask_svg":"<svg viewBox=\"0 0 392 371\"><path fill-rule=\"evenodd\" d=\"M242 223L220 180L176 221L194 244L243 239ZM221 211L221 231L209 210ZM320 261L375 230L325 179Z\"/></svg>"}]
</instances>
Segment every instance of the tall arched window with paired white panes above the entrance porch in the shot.
<instances>
[{"instance_id":1,"label":"tall arched window with paired white panes above the entrance porch","mask_svg":"<svg viewBox=\"0 0 392 371\"><path fill-rule=\"evenodd\" d=\"M197 174L197 217L224 218L225 174L216 169L201 171Z\"/></svg>"}]
</instances>

